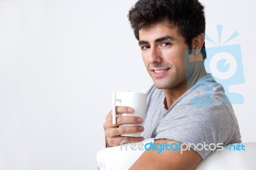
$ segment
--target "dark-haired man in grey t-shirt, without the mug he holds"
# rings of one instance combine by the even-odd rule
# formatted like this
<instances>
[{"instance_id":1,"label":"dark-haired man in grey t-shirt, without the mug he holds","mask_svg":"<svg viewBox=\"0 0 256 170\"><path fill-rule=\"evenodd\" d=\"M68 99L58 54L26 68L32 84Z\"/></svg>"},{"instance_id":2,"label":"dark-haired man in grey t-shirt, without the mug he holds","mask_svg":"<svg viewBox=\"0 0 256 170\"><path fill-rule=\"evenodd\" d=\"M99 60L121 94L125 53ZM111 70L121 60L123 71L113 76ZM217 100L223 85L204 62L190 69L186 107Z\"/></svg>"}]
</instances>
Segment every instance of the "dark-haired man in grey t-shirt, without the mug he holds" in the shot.
<instances>
[{"instance_id":1,"label":"dark-haired man in grey t-shirt, without the mug he holds","mask_svg":"<svg viewBox=\"0 0 256 170\"><path fill-rule=\"evenodd\" d=\"M121 116L112 124L111 112L104 130L106 145L143 141L159 144L241 143L236 116L223 87L205 72L204 6L197 0L140 0L129 11L147 71L154 81L148 91L145 120ZM132 113L116 107L117 114ZM144 121L144 122L143 122ZM143 127L118 127L134 123ZM141 137L121 134L142 132ZM195 169L212 150L145 151L131 169Z\"/></svg>"}]
</instances>

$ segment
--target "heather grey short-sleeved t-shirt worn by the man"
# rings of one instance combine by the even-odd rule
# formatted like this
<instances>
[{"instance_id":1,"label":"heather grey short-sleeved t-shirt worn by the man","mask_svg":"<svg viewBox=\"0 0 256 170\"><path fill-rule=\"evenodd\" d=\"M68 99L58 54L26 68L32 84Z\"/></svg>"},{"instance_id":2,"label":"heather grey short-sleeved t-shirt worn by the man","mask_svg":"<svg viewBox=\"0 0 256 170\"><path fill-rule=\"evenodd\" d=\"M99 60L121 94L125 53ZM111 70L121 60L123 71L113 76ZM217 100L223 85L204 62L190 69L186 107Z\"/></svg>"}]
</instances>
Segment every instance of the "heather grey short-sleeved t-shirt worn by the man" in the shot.
<instances>
[{"instance_id":1,"label":"heather grey short-sleeved t-shirt worn by the man","mask_svg":"<svg viewBox=\"0 0 256 170\"><path fill-rule=\"evenodd\" d=\"M186 144L241 143L232 105L211 74L199 79L168 110L164 108L164 100L163 90L152 86L148 91L145 130L141 136ZM212 152L196 151L203 159Z\"/></svg>"}]
</instances>

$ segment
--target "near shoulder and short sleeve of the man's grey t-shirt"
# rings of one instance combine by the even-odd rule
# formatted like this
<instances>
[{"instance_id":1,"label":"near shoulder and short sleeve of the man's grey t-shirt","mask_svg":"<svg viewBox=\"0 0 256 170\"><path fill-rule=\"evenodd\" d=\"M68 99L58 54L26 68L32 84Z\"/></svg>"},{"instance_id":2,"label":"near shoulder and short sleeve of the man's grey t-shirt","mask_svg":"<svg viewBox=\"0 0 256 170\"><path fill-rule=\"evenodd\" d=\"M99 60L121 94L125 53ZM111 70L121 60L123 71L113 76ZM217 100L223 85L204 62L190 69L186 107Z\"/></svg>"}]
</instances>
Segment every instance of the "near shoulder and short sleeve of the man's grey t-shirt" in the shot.
<instances>
[{"instance_id":1,"label":"near shoulder and short sleeve of the man's grey t-shirt","mask_svg":"<svg viewBox=\"0 0 256 170\"><path fill-rule=\"evenodd\" d=\"M240 141L236 116L221 84L205 78L168 110L157 128L157 139L224 145ZM211 151L198 153L205 158Z\"/></svg>"}]
</instances>

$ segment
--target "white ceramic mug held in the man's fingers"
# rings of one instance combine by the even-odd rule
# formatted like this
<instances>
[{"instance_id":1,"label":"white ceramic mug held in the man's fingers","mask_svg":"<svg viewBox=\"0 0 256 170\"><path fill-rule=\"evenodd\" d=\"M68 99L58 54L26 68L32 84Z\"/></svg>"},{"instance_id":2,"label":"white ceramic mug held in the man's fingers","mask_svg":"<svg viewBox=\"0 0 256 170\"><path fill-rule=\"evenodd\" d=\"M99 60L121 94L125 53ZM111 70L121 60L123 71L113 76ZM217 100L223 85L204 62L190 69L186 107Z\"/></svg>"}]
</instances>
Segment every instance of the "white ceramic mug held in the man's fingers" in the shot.
<instances>
[{"instance_id":1,"label":"white ceramic mug held in the man's fingers","mask_svg":"<svg viewBox=\"0 0 256 170\"><path fill-rule=\"evenodd\" d=\"M138 116L141 118L145 118L146 112L146 105L147 105L147 94L145 93L136 93L130 91L120 91L120 92L113 92L112 98L112 116L113 116L113 124L116 124L116 117L117 116ZM134 112L132 114L119 114L116 115L116 106L127 106L132 107ZM124 124L120 125L120 127L134 127L134 126L141 126L141 124ZM123 134L122 136L132 136L132 137L139 137L140 133L136 134Z\"/></svg>"}]
</instances>

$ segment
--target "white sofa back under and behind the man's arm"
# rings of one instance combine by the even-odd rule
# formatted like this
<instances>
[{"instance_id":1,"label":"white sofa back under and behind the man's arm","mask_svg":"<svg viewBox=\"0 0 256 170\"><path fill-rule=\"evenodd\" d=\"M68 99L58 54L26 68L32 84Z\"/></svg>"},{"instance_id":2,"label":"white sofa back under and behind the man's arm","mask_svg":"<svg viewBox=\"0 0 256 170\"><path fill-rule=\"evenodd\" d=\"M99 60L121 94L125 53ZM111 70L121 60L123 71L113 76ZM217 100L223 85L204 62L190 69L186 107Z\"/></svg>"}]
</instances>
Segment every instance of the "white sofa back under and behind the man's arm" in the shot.
<instances>
[{"instance_id":1,"label":"white sofa back under and behind the man's arm","mask_svg":"<svg viewBox=\"0 0 256 170\"><path fill-rule=\"evenodd\" d=\"M154 142L154 139L145 139L141 143L150 142ZM222 151L214 151L196 167L196 170L256 169L256 143L243 143L243 145L245 150L238 151L232 147L232 150L224 148ZM127 150L125 146L127 146ZM144 148L143 150L132 150L131 144L123 145L122 150L121 146L104 148L96 155L99 169L129 169L144 151Z\"/></svg>"}]
</instances>

